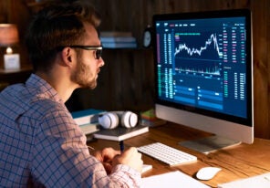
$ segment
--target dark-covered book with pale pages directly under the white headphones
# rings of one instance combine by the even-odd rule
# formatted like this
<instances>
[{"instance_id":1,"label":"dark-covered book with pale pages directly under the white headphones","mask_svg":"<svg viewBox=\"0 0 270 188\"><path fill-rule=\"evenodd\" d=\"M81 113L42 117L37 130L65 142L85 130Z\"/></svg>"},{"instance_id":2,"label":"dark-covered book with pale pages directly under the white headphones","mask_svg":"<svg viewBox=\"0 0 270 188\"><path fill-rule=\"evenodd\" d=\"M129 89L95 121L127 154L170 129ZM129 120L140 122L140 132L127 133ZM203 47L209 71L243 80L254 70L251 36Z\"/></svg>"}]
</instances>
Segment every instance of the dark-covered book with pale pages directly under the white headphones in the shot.
<instances>
[{"instance_id":1,"label":"dark-covered book with pale pages directly under the white headphones","mask_svg":"<svg viewBox=\"0 0 270 188\"><path fill-rule=\"evenodd\" d=\"M124 141L148 131L149 128L142 125L137 125L134 128L124 128L119 126L113 130L100 129L99 131L94 132L94 137L96 139L104 139L109 141Z\"/></svg>"}]
</instances>

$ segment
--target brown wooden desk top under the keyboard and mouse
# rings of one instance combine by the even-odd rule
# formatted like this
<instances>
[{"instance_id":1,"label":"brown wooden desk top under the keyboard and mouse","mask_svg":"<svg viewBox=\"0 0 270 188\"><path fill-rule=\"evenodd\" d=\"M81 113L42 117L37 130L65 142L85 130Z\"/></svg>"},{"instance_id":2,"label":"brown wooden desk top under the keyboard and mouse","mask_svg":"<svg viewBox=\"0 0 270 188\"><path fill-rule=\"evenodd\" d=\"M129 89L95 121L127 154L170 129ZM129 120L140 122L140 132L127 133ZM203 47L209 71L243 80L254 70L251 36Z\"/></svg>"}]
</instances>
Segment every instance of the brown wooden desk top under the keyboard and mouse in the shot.
<instances>
[{"instance_id":1,"label":"brown wooden desk top under the keyboard and mouse","mask_svg":"<svg viewBox=\"0 0 270 188\"><path fill-rule=\"evenodd\" d=\"M178 144L179 141L203 138L209 135L203 131L196 131L173 123L151 128L149 132L125 141L125 146L141 146L151 142L160 141L171 147L187 151L198 157L197 162L187 163L170 167L169 165L152 159L146 155L142 156L144 163L152 164L153 169L145 172L142 176L148 177L164 172L181 171L195 178L196 172L204 166L216 166L223 170L210 181L201 181L212 187L218 183L227 183L240 178L247 178L264 172L270 172L270 141L254 139L254 144L240 144L234 148L215 151L208 155L198 151L191 151ZM113 147L119 150L117 141L98 140L89 142L88 145L97 149Z\"/></svg>"}]
</instances>

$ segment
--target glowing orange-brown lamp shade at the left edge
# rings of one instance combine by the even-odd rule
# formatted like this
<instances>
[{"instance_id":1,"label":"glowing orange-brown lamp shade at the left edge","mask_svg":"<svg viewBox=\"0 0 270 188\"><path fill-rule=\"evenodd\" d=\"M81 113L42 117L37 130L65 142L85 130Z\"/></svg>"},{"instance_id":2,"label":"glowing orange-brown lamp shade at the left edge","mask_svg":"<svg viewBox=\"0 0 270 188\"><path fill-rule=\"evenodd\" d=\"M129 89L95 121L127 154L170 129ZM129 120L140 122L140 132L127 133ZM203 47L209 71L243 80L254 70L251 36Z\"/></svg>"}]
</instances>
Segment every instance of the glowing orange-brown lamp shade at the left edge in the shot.
<instances>
[{"instance_id":1,"label":"glowing orange-brown lamp shade at the left edge","mask_svg":"<svg viewBox=\"0 0 270 188\"><path fill-rule=\"evenodd\" d=\"M0 24L0 47L8 47L18 42L17 26L15 24Z\"/></svg>"}]
</instances>

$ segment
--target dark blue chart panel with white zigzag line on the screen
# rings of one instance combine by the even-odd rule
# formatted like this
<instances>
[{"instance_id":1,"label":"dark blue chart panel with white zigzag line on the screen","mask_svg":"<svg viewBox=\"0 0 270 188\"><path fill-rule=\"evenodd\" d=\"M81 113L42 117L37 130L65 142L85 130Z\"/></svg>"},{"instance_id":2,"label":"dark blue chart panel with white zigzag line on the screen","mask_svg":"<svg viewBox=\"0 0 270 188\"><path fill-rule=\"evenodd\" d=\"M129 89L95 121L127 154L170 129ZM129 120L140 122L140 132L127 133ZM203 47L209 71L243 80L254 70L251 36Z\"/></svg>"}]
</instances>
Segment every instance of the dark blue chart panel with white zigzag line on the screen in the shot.
<instances>
[{"instance_id":1,"label":"dark blue chart panel with white zigzag line on the screen","mask_svg":"<svg viewBox=\"0 0 270 188\"><path fill-rule=\"evenodd\" d=\"M222 39L216 33L175 33L175 72L220 76L223 60Z\"/></svg>"}]
</instances>

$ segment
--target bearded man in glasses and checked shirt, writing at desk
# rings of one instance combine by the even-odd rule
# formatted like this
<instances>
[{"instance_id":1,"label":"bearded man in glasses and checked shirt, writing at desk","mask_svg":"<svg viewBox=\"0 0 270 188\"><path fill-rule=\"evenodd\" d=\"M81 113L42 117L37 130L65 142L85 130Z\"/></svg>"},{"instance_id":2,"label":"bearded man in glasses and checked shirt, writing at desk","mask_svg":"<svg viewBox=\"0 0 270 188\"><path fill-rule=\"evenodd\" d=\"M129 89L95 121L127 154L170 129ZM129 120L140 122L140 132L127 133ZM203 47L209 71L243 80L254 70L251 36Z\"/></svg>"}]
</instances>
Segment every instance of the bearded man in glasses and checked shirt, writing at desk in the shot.
<instances>
[{"instance_id":1,"label":"bearded man in glasses and checked shirt, writing at desk","mask_svg":"<svg viewBox=\"0 0 270 188\"><path fill-rule=\"evenodd\" d=\"M50 5L29 26L34 74L0 94L0 185L4 187L139 187L141 154L106 148L89 154L65 102L97 86L104 65L99 16L81 2Z\"/></svg>"}]
</instances>

